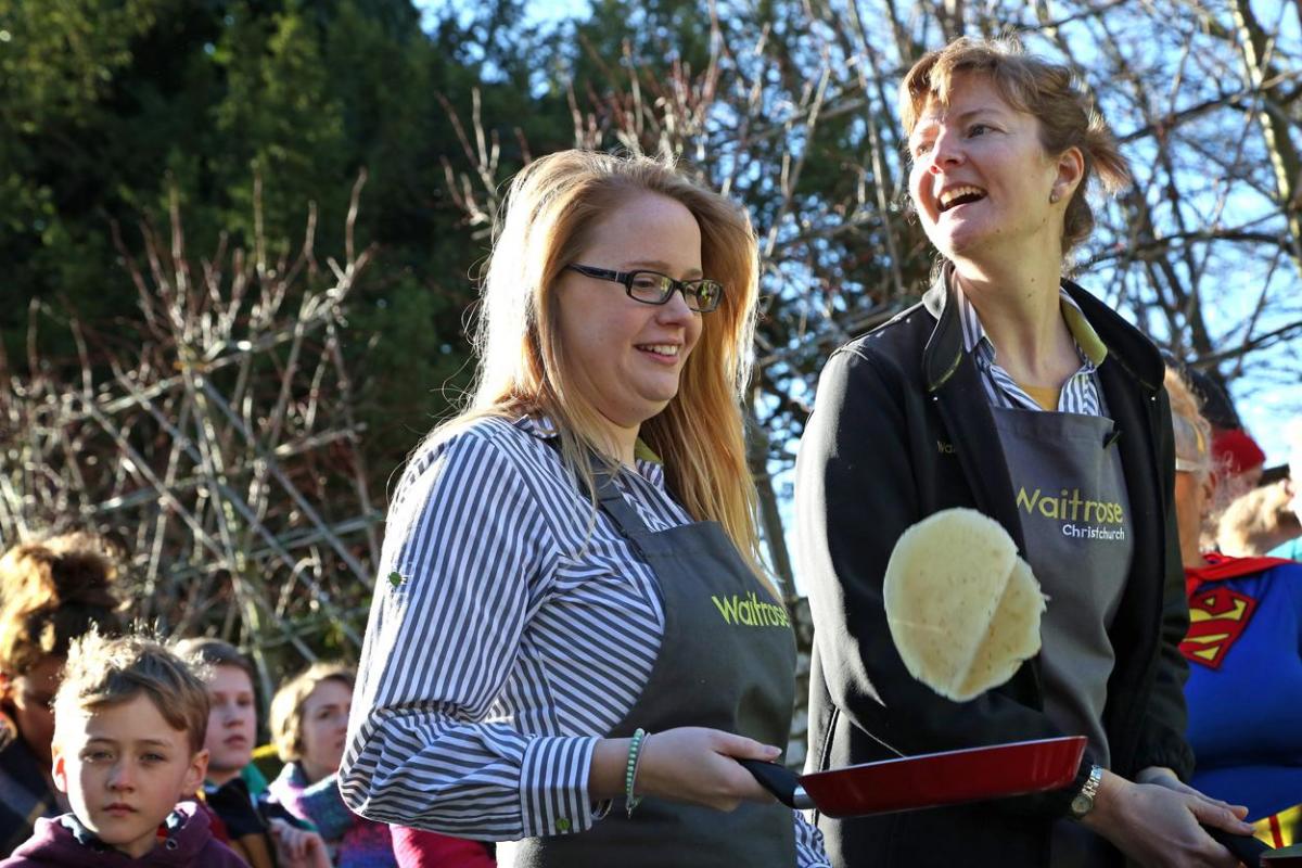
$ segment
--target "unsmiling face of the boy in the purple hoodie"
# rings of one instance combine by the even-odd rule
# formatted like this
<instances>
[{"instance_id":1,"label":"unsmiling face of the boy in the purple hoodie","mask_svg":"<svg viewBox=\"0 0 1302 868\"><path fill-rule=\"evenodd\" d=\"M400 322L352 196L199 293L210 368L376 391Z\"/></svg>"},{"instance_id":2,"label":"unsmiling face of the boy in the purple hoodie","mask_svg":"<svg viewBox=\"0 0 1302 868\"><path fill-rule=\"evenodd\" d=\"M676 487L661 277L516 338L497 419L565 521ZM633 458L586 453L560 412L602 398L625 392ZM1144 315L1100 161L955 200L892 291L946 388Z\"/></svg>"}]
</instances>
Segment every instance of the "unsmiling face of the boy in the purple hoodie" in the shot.
<instances>
[{"instance_id":1,"label":"unsmiling face of the boy in the purple hoodie","mask_svg":"<svg viewBox=\"0 0 1302 868\"><path fill-rule=\"evenodd\" d=\"M53 753L55 783L77 819L133 859L154 848L159 824L198 790L208 761L145 694L62 721Z\"/></svg>"}]
</instances>

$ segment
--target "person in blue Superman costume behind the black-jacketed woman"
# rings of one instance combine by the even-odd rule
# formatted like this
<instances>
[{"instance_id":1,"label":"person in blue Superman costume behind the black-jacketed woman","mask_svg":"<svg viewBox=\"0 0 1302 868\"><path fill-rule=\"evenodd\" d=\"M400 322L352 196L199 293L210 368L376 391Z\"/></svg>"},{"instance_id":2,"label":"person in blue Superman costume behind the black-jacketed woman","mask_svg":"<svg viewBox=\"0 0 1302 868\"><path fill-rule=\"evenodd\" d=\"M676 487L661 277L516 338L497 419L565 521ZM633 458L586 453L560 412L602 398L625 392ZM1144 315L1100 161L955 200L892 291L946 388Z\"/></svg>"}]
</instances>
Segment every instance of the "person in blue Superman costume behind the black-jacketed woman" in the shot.
<instances>
[{"instance_id":1,"label":"person in blue Superman costume behind the black-jacketed woman","mask_svg":"<svg viewBox=\"0 0 1302 868\"><path fill-rule=\"evenodd\" d=\"M1176 513L1189 595L1185 700L1197 765L1190 783L1249 807L1273 847L1302 833L1302 563L1202 552L1216 493L1207 420L1167 371L1176 433Z\"/></svg>"}]
</instances>

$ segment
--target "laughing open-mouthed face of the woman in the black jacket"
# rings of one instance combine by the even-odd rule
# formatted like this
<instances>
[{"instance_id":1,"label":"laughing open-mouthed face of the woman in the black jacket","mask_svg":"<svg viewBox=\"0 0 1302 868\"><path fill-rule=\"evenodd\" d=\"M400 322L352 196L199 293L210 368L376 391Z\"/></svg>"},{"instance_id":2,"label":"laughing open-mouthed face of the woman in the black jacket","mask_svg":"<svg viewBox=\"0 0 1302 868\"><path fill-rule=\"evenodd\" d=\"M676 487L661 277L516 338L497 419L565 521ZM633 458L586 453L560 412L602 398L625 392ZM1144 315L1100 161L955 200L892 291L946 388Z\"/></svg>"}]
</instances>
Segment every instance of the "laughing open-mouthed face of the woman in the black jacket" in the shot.
<instances>
[{"instance_id":1,"label":"laughing open-mouthed face of the woman in the black jacket","mask_svg":"<svg viewBox=\"0 0 1302 868\"><path fill-rule=\"evenodd\" d=\"M949 259L1060 255L1074 189L1040 143L1039 121L990 77L960 73L949 103L928 100L909 137L909 193L927 238ZM1057 193L1061 204L1051 202Z\"/></svg>"}]
</instances>

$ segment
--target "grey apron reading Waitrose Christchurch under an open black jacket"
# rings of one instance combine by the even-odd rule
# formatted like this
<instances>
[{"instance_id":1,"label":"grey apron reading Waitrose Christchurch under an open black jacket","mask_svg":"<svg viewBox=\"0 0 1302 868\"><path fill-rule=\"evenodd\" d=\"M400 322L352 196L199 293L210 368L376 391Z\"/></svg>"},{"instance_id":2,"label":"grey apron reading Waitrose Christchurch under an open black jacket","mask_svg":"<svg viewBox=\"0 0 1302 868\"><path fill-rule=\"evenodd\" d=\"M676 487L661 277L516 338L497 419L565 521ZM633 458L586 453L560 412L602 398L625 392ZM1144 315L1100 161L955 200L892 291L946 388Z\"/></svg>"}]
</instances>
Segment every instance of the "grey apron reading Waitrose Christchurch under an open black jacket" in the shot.
<instances>
[{"instance_id":1,"label":"grey apron reading Waitrose Christchurch under an open black jacket","mask_svg":"<svg viewBox=\"0 0 1302 868\"><path fill-rule=\"evenodd\" d=\"M991 407L1008 461L1026 560L1048 596L1040 625L1044 713L1090 737L1107 768L1103 707L1116 660L1108 629L1134 553L1130 501L1112 420ZM1053 868L1121 864L1120 854L1070 820L1053 824Z\"/></svg>"}]
</instances>

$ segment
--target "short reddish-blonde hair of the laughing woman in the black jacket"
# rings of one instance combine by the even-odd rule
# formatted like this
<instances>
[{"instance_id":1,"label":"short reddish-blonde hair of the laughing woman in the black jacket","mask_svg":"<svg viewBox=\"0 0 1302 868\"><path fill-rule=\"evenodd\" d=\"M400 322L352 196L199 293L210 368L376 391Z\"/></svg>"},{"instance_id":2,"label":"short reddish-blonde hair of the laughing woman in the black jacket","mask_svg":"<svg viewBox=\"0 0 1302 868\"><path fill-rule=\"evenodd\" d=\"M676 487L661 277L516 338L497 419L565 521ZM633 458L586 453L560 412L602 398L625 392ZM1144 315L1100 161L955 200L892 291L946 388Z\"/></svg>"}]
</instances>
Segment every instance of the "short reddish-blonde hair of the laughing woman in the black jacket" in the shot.
<instances>
[{"instance_id":1,"label":"short reddish-blonde hair of the laughing woman in the black jacket","mask_svg":"<svg viewBox=\"0 0 1302 868\"><path fill-rule=\"evenodd\" d=\"M900 82L900 118L906 137L913 134L928 102L949 103L960 73L987 75L1009 105L1035 116L1046 154L1056 156L1068 148L1081 150L1085 170L1068 202L1062 225L1062 254L1066 255L1094 230L1094 211L1085 195L1090 180L1098 176L1108 193L1130 182L1130 167L1094 100L1070 69L1025 53L1021 43L1010 36L960 36L923 55Z\"/></svg>"}]
</instances>

